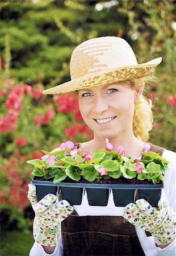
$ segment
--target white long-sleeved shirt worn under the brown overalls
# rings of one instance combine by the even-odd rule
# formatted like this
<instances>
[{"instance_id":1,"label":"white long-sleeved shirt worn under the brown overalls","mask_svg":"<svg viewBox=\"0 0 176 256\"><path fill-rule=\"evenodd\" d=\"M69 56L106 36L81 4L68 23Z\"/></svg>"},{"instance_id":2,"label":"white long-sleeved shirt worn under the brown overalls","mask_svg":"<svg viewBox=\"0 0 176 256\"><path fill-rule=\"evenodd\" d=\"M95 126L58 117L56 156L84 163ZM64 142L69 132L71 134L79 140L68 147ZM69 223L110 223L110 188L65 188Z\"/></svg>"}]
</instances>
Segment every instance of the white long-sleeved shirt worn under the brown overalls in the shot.
<instances>
[{"instance_id":1,"label":"white long-sleeved shirt worn under the brown overalls","mask_svg":"<svg viewBox=\"0 0 176 256\"><path fill-rule=\"evenodd\" d=\"M162 155L163 158L168 160L169 170L165 172L165 187L162 189L162 195L168 200L170 207L175 210L175 180L176 180L176 153L165 150ZM115 207L112 191L110 191L110 197L108 205L106 207L90 206L87 200L86 190L83 192L81 205L73 205L79 216L122 216L124 207ZM136 228L136 227L135 227ZM176 255L176 240L170 243L169 246L161 249L157 247L152 236L147 237L145 231L140 228L136 228L137 236L144 250L146 256L175 256ZM62 256L63 246L62 238L60 238L55 251L52 254L45 253L43 247L39 243L35 242L30 251L30 256Z\"/></svg>"}]
</instances>

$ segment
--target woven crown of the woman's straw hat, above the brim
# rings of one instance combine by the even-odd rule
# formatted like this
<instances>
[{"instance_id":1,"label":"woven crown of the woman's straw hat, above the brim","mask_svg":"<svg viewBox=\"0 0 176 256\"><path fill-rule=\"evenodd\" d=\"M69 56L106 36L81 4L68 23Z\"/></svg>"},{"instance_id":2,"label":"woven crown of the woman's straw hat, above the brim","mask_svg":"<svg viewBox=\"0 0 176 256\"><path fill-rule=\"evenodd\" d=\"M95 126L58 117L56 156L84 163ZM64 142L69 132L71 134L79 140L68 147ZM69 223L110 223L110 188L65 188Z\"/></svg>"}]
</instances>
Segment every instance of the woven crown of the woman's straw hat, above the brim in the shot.
<instances>
[{"instance_id":1,"label":"woven crown of the woman's straw hat, above the brim","mask_svg":"<svg viewBox=\"0 0 176 256\"><path fill-rule=\"evenodd\" d=\"M87 40L77 46L70 59L72 80L86 75L137 65L133 49L122 38L104 36Z\"/></svg>"}]
</instances>

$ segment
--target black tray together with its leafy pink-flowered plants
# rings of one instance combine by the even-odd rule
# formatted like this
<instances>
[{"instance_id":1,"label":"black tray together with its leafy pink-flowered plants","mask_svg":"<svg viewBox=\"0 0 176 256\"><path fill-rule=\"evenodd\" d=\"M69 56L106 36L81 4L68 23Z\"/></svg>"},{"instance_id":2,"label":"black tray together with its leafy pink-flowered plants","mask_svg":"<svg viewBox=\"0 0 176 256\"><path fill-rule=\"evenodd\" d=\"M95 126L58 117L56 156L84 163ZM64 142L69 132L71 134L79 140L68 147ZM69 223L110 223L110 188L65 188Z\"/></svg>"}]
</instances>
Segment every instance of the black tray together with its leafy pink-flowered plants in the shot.
<instances>
[{"instance_id":1,"label":"black tray together with its leafy pink-flowered plants","mask_svg":"<svg viewBox=\"0 0 176 256\"><path fill-rule=\"evenodd\" d=\"M73 205L81 204L86 188L90 205L105 206L112 189L115 205L125 206L135 199L138 189L140 198L157 206L168 162L149 151L148 144L141 159L124 156L123 147L112 151L108 139L106 148L91 154L70 141L62 143L56 151L43 152L41 159L27 161L34 166L32 183L37 187L38 200L59 189L62 199Z\"/></svg>"}]
</instances>

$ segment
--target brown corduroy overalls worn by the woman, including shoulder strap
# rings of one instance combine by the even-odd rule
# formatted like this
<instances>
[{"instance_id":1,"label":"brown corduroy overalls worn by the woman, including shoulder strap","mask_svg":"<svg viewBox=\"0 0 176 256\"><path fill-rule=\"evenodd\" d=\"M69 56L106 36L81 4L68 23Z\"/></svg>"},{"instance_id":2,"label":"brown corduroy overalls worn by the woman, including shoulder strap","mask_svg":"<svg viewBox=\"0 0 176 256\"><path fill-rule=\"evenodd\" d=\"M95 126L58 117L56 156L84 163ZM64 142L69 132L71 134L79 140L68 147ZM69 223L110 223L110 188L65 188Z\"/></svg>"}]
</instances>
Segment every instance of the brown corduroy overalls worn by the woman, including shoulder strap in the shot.
<instances>
[{"instance_id":1,"label":"brown corduroy overalls worn by the woman, including shoulder strap","mask_svg":"<svg viewBox=\"0 0 176 256\"><path fill-rule=\"evenodd\" d=\"M150 146L150 150L160 155L165 150ZM62 221L62 243L64 256L145 255L135 226L124 222L121 216L78 216L74 211Z\"/></svg>"}]
</instances>

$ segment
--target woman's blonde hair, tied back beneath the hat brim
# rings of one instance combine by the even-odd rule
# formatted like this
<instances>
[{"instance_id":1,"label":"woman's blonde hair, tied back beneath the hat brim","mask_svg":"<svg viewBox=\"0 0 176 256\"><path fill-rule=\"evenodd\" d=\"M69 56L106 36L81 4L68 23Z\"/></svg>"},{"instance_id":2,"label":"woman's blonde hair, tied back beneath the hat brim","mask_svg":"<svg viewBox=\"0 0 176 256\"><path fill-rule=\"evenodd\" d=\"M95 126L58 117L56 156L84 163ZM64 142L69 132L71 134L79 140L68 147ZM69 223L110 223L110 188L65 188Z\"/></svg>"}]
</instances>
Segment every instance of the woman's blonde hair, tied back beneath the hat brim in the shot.
<instances>
[{"instance_id":1,"label":"woman's blonde hair, tied back beneath the hat brim","mask_svg":"<svg viewBox=\"0 0 176 256\"><path fill-rule=\"evenodd\" d=\"M156 81L154 76L139 77L132 79L129 83L135 88L142 88L147 82ZM133 115L133 133L141 141L148 141L149 131L153 127L152 101L148 100L143 94L140 100L135 103Z\"/></svg>"}]
</instances>

